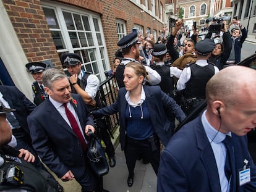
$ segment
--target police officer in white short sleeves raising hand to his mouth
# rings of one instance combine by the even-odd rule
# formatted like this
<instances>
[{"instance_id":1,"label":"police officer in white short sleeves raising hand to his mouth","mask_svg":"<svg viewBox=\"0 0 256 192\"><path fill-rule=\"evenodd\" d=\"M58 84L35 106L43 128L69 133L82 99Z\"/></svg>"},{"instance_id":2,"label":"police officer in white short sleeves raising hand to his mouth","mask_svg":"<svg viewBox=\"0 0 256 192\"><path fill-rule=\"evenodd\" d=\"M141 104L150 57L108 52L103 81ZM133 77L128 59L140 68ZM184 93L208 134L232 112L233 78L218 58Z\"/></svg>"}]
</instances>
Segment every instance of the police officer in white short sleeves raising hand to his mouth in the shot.
<instances>
[{"instance_id":1,"label":"police officer in white short sleeves raising hand to his mouth","mask_svg":"<svg viewBox=\"0 0 256 192\"><path fill-rule=\"evenodd\" d=\"M82 96L83 101L87 104L89 111L99 109L101 107L100 96L98 89L100 80L96 75L90 72L85 72L81 69L82 58L78 54L66 53L62 54L61 62L70 73L69 81L72 93L77 93ZM106 126L105 119L96 119L98 131L101 133L102 140L106 145L106 153L109 158L110 167L116 165L116 157L114 156L114 146L108 134L108 127Z\"/></svg>"}]
</instances>

